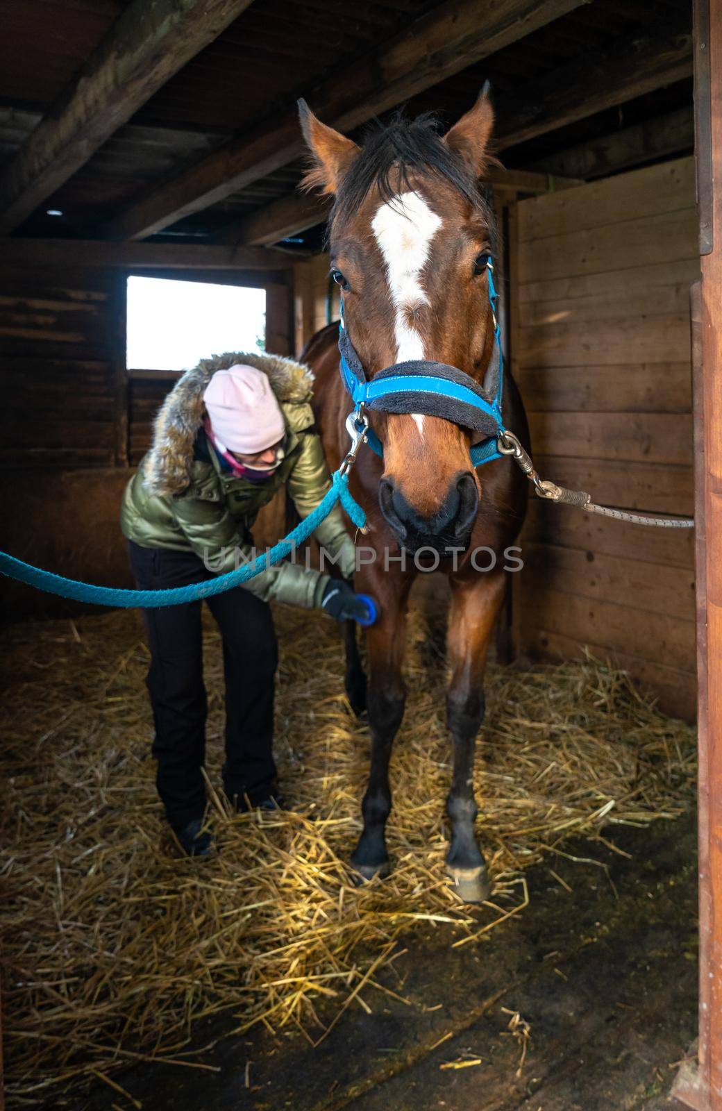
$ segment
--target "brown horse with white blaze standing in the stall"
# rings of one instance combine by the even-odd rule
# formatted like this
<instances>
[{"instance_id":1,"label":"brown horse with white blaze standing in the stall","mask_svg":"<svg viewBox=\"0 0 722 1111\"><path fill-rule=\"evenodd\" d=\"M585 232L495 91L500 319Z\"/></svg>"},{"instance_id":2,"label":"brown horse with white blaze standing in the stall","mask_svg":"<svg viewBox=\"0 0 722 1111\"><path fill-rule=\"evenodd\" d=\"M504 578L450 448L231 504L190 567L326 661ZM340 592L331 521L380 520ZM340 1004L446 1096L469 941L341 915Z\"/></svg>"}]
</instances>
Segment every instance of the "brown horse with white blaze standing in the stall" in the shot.
<instances>
[{"instance_id":1,"label":"brown horse with white blaze standing in the stall","mask_svg":"<svg viewBox=\"0 0 722 1111\"><path fill-rule=\"evenodd\" d=\"M493 213L479 192L493 123L487 91L443 137L429 118L395 119L363 148L321 123L303 102L300 109L313 157L305 184L334 197L331 276L341 287L345 327L367 378L405 360L433 359L481 383L494 343L485 262L497 242ZM317 419L334 469L349 449L345 419L352 408L339 376L337 342L333 324L313 337L302 357L315 373ZM505 427L528 446L524 410L509 374L502 412ZM524 517L525 480L510 459L474 471L472 434L450 420L368 416L383 459L363 447L351 474L351 492L368 516L363 543L375 556L359 568L355 589L380 601L381 618L367 630L371 773L363 832L351 860L364 879L389 870L389 758L405 702L407 603L418 565L439 560L451 585L453 667L447 700L453 742L447 869L462 898L481 901L489 883L474 838L474 741L484 714L487 651L505 592L503 552ZM493 570L478 570L491 562L474 559L482 547L498 557ZM355 635L347 638L347 689L358 705L363 691Z\"/></svg>"}]
</instances>

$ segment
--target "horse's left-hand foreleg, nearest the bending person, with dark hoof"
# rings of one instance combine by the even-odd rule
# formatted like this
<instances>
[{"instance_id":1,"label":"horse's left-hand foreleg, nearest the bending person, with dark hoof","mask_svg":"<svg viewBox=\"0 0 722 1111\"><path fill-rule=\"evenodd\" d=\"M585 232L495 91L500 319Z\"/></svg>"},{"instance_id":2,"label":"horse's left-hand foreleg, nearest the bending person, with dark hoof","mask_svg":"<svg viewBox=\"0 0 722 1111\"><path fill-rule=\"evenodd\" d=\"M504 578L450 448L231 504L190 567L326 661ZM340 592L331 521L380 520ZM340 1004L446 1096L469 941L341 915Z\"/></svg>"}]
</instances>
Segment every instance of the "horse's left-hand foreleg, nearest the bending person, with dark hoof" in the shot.
<instances>
[{"instance_id":1,"label":"horse's left-hand foreleg, nearest the bending person, with dark hoof","mask_svg":"<svg viewBox=\"0 0 722 1111\"><path fill-rule=\"evenodd\" d=\"M391 813L389 760L407 698L401 664L409 583L398 582L395 577L389 574L374 575L373 581L367 581L360 589L375 595L381 604L380 620L367 630L371 770L361 804L363 831L351 855L351 863L359 875L370 880L389 872L385 840L387 820Z\"/></svg>"}]
</instances>

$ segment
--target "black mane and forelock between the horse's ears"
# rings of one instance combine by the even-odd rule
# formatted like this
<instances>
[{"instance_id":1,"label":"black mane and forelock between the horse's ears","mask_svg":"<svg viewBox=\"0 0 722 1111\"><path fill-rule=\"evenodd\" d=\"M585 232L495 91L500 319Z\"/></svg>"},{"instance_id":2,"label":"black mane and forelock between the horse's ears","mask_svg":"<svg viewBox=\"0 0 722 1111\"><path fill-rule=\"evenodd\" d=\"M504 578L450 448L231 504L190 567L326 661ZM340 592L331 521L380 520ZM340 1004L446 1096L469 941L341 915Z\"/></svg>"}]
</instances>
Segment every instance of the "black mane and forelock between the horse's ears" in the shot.
<instances>
[{"instance_id":1,"label":"black mane and forelock between the horse's ears","mask_svg":"<svg viewBox=\"0 0 722 1111\"><path fill-rule=\"evenodd\" d=\"M480 210L494 236L493 207L482 196L478 181L461 158L443 142L439 130L439 120L432 113L415 120L397 113L390 123L377 123L367 132L361 153L357 154L341 182L329 228L334 220L354 216L374 187L383 201L390 201L400 190L410 188L410 171L425 170L449 181Z\"/></svg>"}]
</instances>

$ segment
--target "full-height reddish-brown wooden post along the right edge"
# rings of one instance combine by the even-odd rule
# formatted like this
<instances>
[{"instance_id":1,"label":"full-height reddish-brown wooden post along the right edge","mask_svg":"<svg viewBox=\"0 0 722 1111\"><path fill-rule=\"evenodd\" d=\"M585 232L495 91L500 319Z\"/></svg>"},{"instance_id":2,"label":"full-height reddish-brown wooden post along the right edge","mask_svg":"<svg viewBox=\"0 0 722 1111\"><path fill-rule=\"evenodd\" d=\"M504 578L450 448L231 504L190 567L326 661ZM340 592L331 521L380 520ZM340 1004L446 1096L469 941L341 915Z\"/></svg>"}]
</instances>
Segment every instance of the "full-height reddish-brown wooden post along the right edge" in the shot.
<instances>
[{"instance_id":1,"label":"full-height reddish-brown wooden post along the right edge","mask_svg":"<svg viewBox=\"0 0 722 1111\"><path fill-rule=\"evenodd\" d=\"M695 371L699 668L700 1042L674 1094L722 1111L722 0L694 2L701 288L692 291Z\"/></svg>"}]
</instances>

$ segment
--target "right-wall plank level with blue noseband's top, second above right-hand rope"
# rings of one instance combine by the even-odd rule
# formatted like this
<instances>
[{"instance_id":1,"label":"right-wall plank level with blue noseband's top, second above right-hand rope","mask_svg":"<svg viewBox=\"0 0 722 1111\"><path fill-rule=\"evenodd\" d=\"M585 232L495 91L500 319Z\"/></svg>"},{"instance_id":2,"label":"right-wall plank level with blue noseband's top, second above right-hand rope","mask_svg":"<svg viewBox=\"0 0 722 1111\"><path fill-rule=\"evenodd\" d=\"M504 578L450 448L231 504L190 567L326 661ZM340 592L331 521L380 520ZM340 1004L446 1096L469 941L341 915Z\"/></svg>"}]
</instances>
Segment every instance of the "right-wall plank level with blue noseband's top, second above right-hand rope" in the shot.
<instances>
[{"instance_id":1,"label":"right-wall plank level with blue noseband's top, second above right-hand rope","mask_svg":"<svg viewBox=\"0 0 722 1111\"><path fill-rule=\"evenodd\" d=\"M689 413L689 362L641 362L604 367L534 367L518 374L534 412Z\"/></svg>"}]
</instances>

